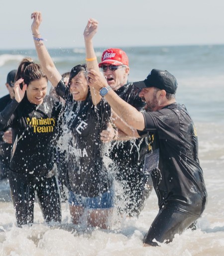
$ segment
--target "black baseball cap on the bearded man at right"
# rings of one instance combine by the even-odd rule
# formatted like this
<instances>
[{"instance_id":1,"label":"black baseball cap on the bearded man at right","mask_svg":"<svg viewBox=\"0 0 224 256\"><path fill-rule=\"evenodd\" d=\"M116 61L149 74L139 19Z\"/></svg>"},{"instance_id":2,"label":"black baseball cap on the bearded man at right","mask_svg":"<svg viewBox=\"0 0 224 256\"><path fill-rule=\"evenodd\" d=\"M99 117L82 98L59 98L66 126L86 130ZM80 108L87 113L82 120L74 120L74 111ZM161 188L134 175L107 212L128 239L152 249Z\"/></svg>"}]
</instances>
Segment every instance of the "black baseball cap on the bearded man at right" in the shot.
<instances>
[{"instance_id":1,"label":"black baseball cap on the bearded man at right","mask_svg":"<svg viewBox=\"0 0 224 256\"><path fill-rule=\"evenodd\" d=\"M177 80L167 70L152 69L144 81L134 82L138 88L156 87L168 93L175 94L177 91Z\"/></svg>"}]
</instances>

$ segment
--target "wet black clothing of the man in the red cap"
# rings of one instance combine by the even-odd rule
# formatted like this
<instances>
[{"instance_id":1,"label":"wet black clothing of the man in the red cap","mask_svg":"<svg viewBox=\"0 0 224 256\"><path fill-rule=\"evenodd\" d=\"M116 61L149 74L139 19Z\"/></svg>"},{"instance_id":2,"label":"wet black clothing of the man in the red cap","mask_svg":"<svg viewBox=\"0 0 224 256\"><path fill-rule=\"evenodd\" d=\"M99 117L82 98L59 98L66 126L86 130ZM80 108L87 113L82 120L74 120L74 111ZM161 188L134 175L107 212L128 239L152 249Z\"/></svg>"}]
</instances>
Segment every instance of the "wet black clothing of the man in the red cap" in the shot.
<instances>
[{"instance_id":1,"label":"wet black clothing of the man in the red cap","mask_svg":"<svg viewBox=\"0 0 224 256\"><path fill-rule=\"evenodd\" d=\"M127 83L114 92L138 111L142 111L145 103L138 96L139 91L133 84ZM119 199L122 205L119 208L121 212L125 211L131 216L139 215L152 188L150 175L145 175L142 171L147 152L147 138L112 141L110 158L116 166L116 178L124 193L124 198L121 195Z\"/></svg>"}]
</instances>

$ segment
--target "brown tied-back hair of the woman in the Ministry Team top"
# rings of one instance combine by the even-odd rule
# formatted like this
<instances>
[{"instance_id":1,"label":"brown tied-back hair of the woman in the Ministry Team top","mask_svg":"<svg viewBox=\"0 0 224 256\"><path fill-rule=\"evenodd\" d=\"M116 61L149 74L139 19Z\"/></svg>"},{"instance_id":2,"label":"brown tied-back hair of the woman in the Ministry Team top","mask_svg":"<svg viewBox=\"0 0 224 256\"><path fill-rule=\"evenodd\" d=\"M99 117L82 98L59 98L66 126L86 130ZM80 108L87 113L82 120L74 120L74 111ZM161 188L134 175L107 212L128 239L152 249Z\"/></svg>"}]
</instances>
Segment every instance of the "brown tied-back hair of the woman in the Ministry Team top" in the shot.
<instances>
[{"instance_id":1,"label":"brown tied-back hair of the woman in the Ministry Team top","mask_svg":"<svg viewBox=\"0 0 224 256\"><path fill-rule=\"evenodd\" d=\"M20 62L16 75L15 81L19 78L24 79L24 83L28 86L32 81L45 78L48 81L46 74L43 72L39 64L35 64L29 57L23 58ZM20 84L20 87L22 84Z\"/></svg>"}]
</instances>

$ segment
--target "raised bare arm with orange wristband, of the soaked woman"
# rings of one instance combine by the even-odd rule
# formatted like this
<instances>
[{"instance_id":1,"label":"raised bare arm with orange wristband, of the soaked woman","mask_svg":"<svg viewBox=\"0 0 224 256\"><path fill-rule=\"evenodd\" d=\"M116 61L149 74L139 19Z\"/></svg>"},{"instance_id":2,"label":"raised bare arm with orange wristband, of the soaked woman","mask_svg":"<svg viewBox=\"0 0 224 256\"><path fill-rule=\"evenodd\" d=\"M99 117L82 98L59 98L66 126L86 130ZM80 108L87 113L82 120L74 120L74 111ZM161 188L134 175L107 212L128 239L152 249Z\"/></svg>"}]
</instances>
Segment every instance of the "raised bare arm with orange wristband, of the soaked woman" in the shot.
<instances>
[{"instance_id":1,"label":"raised bare arm with orange wristband, of the soaked woman","mask_svg":"<svg viewBox=\"0 0 224 256\"><path fill-rule=\"evenodd\" d=\"M98 21L96 19L90 18L84 30L84 39L86 46L86 65L87 69L93 69L100 74L100 69L97 62L97 57L93 47L93 37L98 29ZM90 87L91 97L93 104L96 106L101 101L100 93L95 90L94 87Z\"/></svg>"}]
</instances>

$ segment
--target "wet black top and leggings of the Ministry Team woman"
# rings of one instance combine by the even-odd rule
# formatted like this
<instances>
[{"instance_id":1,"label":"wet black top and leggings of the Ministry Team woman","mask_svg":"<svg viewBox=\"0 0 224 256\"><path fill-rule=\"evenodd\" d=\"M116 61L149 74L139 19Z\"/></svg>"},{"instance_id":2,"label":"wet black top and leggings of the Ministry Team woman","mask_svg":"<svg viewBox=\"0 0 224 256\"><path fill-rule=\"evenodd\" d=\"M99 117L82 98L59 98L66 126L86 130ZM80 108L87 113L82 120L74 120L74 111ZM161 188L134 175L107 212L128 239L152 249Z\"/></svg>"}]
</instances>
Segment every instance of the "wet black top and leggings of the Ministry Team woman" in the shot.
<instances>
[{"instance_id":1,"label":"wet black top and leggings of the Ministry Team woman","mask_svg":"<svg viewBox=\"0 0 224 256\"><path fill-rule=\"evenodd\" d=\"M60 112L61 104L48 95L40 105L30 103L25 95L20 103L12 100L0 113L0 129L11 127L13 147L16 145L9 164L9 184L18 225L30 222L27 218L33 215L33 207L29 213L24 207L33 204L34 190L38 190L37 196L41 197L45 220L60 221L57 184L54 177L47 177L54 165L54 140ZM51 192L51 199L45 197L49 197L48 192Z\"/></svg>"}]
</instances>

